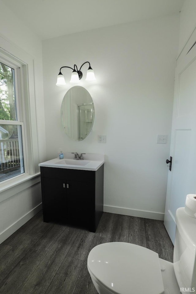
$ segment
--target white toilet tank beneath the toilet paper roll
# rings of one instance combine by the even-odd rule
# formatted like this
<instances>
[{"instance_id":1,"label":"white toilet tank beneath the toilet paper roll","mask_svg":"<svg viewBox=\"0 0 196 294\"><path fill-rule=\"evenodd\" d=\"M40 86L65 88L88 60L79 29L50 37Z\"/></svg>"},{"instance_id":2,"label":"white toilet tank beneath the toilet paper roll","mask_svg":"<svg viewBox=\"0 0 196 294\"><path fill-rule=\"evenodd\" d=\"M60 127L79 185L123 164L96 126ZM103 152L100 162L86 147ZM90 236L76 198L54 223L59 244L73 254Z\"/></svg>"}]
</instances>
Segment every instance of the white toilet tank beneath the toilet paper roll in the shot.
<instances>
[{"instance_id":1,"label":"white toilet tank beneath the toilet paper roll","mask_svg":"<svg viewBox=\"0 0 196 294\"><path fill-rule=\"evenodd\" d=\"M174 271L181 292L196 293L196 218L176 210L176 233L174 243Z\"/></svg>"}]
</instances>

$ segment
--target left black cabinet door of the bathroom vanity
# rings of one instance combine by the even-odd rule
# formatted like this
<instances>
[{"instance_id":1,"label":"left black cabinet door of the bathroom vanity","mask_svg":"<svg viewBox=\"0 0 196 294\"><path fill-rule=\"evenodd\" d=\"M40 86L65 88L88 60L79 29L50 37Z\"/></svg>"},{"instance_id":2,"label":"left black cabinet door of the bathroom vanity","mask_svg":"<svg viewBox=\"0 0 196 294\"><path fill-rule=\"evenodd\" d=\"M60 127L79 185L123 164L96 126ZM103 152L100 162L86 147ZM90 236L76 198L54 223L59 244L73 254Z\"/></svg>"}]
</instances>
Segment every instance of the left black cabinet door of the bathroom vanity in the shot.
<instances>
[{"instance_id":1,"label":"left black cabinet door of the bathroom vanity","mask_svg":"<svg viewBox=\"0 0 196 294\"><path fill-rule=\"evenodd\" d=\"M66 221L66 181L42 178L42 186L43 220Z\"/></svg>"}]
</instances>

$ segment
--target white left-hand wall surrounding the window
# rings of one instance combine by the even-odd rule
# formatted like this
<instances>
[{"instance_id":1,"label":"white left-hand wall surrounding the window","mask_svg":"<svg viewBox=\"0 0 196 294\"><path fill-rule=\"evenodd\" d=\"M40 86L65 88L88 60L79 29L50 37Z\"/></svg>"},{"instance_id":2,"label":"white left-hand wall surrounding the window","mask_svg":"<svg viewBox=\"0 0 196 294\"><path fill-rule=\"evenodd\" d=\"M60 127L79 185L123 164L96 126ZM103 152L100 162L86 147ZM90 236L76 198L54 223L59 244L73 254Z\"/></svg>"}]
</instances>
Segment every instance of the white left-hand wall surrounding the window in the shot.
<instances>
[{"instance_id":1,"label":"white left-hand wall surrounding the window","mask_svg":"<svg viewBox=\"0 0 196 294\"><path fill-rule=\"evenodd\" d=\"M0 184L0 243L17 228L30 219L41 208L40 176L38 162L46 159L45 121L43 107L43 72L41 40L31 32L0 0L0 47L22 61L27 59L33 75L29 75L30 105L35 105L30 118L32 135L36 137L36 156L34 156L35 176L29 176L22 183L8 180L7 188ZM9 17L9 21L8 20ZM20 55L20 56L19 56ZM35 142L32 142L34 148Z\"/></svg>"}]
</instances>

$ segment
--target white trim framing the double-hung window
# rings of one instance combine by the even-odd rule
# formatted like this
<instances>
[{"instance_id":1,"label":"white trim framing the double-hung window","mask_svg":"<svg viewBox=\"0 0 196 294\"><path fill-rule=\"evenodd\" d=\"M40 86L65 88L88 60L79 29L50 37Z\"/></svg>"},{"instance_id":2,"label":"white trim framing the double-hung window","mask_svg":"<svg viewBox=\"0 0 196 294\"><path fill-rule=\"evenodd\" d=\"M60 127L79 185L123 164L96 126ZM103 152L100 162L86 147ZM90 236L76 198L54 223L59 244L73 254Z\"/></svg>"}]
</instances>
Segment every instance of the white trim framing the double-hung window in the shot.
<instances>
[{"instance_id":1,"label":"white trim framing the double-hung window","mask_svg":"<svg viewBox=\"0 0 196 294\"><path fill-rule=\"evenodd\" d=\"M11 44L9 40L0 36L0 55L1 59L9 61L15 65L22 66L21 70L21 97L22 103L22 118L25 121L26 127L25 133L25 146L23 146L23 152L25 152L27 159L27 167L24 174L17 175L13 178L7 179L0 183L0 202L5 200L5 191L13 189L17 185L18 192L20 190L19 184L24 183L32 178L36 177L36 182L40 181L37 176L40 175L40 169L38 164L39 160L39 148L38 148L38 130L36 120L36 97L35 97L35 78L34 78L34 59L31 55L23 51L22 49ZM16 57L17 56L17 57ZM8 64L9 65L9 64ZM24 103L25 102L25 103ZM4 121L5 123L5 121ZM20 124L20 122L15 122ZM29 184L31 185L31 184ZM24 190L24 185L21 185L21 190ZM1 194L1 192L3 192ZM7 194L7 193L6 193ZM10 193L8 193L10 194ZM10 197L10 196L9 196Z\"/></svg>"}]
</instances>

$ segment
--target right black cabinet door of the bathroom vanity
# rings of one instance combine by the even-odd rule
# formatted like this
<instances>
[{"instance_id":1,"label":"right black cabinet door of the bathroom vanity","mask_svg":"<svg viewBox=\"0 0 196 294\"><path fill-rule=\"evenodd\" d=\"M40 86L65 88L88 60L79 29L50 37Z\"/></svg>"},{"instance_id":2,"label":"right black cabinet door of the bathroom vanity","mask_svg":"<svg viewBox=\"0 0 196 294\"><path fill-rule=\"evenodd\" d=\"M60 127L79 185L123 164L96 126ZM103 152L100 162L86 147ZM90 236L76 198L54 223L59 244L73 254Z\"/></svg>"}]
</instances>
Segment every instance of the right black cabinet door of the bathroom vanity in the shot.
<instances>
[{"instance_id":1,"label":"right black cabinet door of the bathroom vanity","mask_svg":"<svg viewBox=\"0 0 196 294\"><path fill-rule=\"evenodd\" d=\"M95 183L67 181L67 216L72 224L87 225L95 223ZM92 230L94 227L92 228Z\"/></svg>"}]
</instances>

